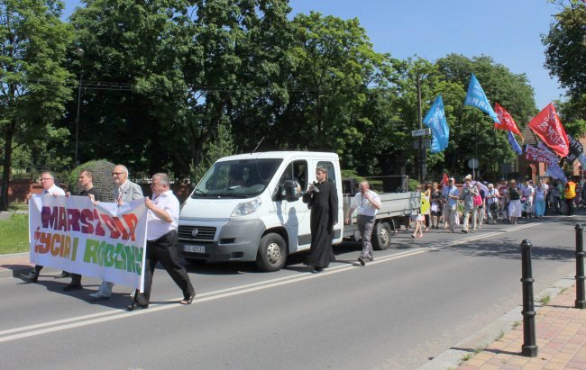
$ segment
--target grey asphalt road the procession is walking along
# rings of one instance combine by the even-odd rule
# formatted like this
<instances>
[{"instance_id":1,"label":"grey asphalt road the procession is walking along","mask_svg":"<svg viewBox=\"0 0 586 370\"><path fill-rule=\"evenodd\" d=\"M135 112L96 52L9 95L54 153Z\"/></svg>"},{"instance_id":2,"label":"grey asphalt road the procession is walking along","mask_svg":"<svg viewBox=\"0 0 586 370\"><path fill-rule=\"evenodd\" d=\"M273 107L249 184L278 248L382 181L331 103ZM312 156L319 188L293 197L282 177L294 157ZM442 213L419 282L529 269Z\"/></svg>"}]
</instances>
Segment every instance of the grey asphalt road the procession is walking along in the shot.
<instances>
[{"instance_id":1,"label":"grey asphalt road the procession is walking along","mask_svg":"<svg viewBox=\"0 0 586 370\"><path fill-rule=\"evenodd\" d=\"M158 270L151 307L133 312L120 285L92 302L96 279L73 293L51 275L0 279L0 369L417 368L521 304L522 239L534 245L536 293L575 275L573 227L585 220L403 232L367 266L355 262L360 244L344 243L319 274L303 255L276 273L189 266L191 306Z\"/></svg>"}]
</instances>

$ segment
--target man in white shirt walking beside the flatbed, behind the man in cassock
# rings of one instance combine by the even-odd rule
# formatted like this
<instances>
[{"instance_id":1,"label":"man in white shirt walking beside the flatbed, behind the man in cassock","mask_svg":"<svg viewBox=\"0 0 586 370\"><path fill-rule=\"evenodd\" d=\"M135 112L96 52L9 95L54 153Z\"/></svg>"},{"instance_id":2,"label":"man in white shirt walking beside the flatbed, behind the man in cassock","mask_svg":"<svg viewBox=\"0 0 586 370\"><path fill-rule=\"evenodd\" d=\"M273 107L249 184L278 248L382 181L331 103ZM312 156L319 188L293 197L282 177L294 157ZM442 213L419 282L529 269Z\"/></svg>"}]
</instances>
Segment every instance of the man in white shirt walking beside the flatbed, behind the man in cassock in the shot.
<instances>
[{"instance_id":1,"label":"man in white shirt walking beside the flatbed, behind the man in cassock","mask_svg":"<svg viewBox=\"0 0 586 370\"><path fill-rule=\"evenodd\" d=\"M358 230L362 236L362 253L358 261L362 266L366 265L366 260L373 261L372 257L372 230L374 229L374 216L380 210L380 196L371 190L368 181L362 181L359 185L360 193L354 196L348 214L346 216L346 225L350 224L354 210L358 210Z\"/></svg>"}]
</instances>

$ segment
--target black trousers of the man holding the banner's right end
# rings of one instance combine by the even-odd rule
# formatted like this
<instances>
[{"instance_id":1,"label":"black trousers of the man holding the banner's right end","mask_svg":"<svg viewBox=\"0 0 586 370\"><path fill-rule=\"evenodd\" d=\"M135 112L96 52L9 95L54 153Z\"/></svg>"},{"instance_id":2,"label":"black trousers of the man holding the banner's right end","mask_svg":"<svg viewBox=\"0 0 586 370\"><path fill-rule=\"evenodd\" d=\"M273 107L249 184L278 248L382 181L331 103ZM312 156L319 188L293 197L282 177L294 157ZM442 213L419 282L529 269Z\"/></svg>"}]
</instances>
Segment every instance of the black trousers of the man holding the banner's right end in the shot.
<instances>
[{"instance_id":1,"label":"black trousers of the man holding the banner's right end","mask_svg":"<svg viewBox=\"0 0 586 370\"><path fill-rule=\"evenodd\" d=\"M134 293L134 301L142 306L148 306L151 301L152 275L157 263L165 268L175 284L181 288L183 296L188 298L195 293L189 275L184 266L179 264L179 245L177 230L169 231L159 239L147 241L146 257L144 261L144 292Z\"/></svg>"}]
</instances>

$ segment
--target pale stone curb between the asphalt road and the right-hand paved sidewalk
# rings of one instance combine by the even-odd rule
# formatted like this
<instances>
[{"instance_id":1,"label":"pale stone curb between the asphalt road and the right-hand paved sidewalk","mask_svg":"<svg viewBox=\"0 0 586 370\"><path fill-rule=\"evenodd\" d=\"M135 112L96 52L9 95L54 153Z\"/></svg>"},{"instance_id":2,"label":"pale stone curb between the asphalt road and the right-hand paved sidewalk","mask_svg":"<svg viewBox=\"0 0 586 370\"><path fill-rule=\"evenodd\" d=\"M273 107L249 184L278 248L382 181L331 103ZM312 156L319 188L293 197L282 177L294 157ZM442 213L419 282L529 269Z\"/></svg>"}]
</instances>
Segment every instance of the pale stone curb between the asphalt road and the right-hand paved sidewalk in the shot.
<instances>
[{"instance_id":1,"label":"pale stone curb between the asphalt road and the right-hand paved sidewalk","mask_svg":"<svg viewBox=\"0 0 586 370\"><path fill-rule=\"evenodd\" d=\"M563 277L562 280L558 280L549 288L546 288L544 291L534 294L535 297L545 296L548 294L552 299L557 296L559 293L562 292L563 289L571 287L575 284L576 281L574 276L568 275ZM543 307L541 302L535 302L535 310L536 312L539 311ZM481 329L481 331L472 334L472 336L468 338L464 338L462 341L457 343L456 345L452 346L450 349L444 351L444 353L440 354L439 356L435 356L433 360L426 363L421 367L418 367L418 370L437 370L437 369L455 369L460 367L462 364L462 358L466 355L469 355L471 352L462 349L453 349L453 348L466 348L471 347L487 347L490 343L497 340L502 333L508 333L511 329L514 329L519 322L523 322L523 315L521 315L521 311L523 311L523 303L519 304L517 307L508 311L499 319L495 320L485 328ZM471 343L475 343L474 346L471 346ZM519 347L520 350L520 347Z\"/></svg>"}]
</instances>

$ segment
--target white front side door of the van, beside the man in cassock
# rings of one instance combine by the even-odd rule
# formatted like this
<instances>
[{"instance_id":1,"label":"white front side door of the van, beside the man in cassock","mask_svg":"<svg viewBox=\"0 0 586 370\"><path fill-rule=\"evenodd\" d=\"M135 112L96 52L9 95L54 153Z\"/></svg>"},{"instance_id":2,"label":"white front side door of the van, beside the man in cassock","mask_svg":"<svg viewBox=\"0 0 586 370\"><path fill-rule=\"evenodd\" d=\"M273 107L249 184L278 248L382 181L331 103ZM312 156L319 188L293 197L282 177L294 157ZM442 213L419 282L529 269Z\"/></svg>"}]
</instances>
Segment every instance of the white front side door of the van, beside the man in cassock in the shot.
<instances>
[{"instance_id":1,"label":"white front side door of the van, beside the man in cassock","mask_svg":"<svg viewBox=\"0 0 586 370\"><path fill-rule=\"evenodd\" d=\"M295 200L287 199L286 185L295 183ZM307 160L294 160L279 178L273 193L279 221L288 230L289 253L309 248L311 244L310 215L302 195L307 190ZM304 237L305 236L305 237Z\"/></svg>"}]
</instances>

